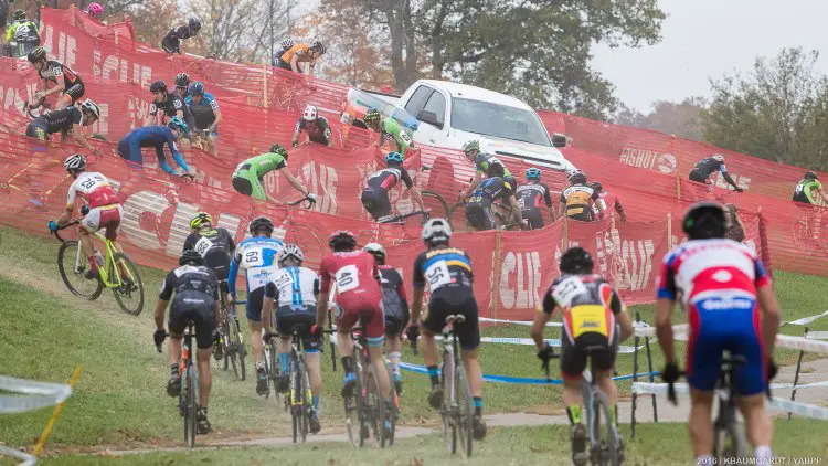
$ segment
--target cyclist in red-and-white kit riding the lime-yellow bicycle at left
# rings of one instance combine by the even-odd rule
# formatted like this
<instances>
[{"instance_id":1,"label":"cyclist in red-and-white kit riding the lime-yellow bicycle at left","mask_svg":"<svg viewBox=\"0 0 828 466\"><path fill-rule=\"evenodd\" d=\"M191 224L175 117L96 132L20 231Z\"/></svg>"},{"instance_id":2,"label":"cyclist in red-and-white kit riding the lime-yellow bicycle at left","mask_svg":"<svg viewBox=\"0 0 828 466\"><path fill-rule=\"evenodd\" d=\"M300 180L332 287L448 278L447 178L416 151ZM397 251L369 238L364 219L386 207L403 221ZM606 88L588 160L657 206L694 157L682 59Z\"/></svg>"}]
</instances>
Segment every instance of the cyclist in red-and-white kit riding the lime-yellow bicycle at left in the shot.
<instances>
[{"instance_id":1,"label":"cyclist in red-and-white kit riding the lime-yellow bicycle at left","mask_svg":"<svg viewBox=\"0 0 828 466\"><path fill-rule=\"evenodd\" d=\"M124 218L124 210L118 202L112 184L105 176L96 171L86 171L86 159L79 153L74 153L66 158L63 167L74 178L75 181L70 186L66 194L66 210L57 222L50 221L49 230L54 232L59 226L65 225L72 212L75 210L75 201L79 197L87 205L81 209L84 214L83 221L77 226L77 233L81 235L81 248L89 261L89 269L84 273L88 279L97 278L99 264L95 257L95 246L92 244L92 235L100 229L106 229L105 236L115 243L116 250L121 252L120 245L116 243L118 232L120 231L120 220Z\"/></svg>"}]
</instances>

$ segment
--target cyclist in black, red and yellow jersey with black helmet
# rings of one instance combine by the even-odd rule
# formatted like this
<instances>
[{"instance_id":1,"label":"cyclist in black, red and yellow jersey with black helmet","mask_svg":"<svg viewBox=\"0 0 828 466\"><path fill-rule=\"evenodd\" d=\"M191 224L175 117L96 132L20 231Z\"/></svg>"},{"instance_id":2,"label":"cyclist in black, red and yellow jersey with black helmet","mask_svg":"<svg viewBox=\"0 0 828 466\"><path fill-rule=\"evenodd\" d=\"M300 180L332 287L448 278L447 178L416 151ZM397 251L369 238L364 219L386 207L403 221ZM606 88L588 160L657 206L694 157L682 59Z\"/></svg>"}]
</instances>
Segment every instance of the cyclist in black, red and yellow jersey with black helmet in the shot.
<instances>
[{"instance_id":1,"label":"cyclist in black, red and yellow jersey with black helmet","mask_svg":"<svg viewBox=\"0 0 828 466\"><path fill-rule=\"evenodd\" d=\"M597 370L593 377L609 399L612 422L617 425L618 391L613 381L613 367L618 342L633 333L633 321L618 293L601 275L593 274L590 253L582 247L571 247L561 256L560 265L561 276L552 282L543 295L543 311L535 316L531 336L538 346L538 358L548 366L554 350L543 341L543 329L552 315L561 311L564 321L561 374L563 403L571 425L572 460L576 465L585 465L587 436L581 416L585 348L603 348L592 353L593 366Z\"/></svg>"}]
</instances>

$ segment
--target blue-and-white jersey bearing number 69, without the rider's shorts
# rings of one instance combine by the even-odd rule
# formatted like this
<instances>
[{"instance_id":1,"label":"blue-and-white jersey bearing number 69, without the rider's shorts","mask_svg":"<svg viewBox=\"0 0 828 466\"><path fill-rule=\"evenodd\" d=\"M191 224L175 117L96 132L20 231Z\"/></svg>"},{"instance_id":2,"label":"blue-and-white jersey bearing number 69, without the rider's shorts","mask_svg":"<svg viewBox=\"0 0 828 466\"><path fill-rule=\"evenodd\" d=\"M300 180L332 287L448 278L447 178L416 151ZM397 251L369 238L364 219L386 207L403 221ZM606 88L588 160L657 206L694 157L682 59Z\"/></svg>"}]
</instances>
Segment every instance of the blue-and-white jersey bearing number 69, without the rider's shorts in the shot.
<instances>
[{"instance_id":1,"label":"blue-and-white jersey bearing number 69, without the rider's shorts","mask_svg":"<svg viewBox=\"0 0 828 466\"><path fill-rule=\"evenodd\" d=\"M252 293L273 283L279 265L276 260L283 242L273 237L257 236L244 240L236 246L236 255L230 263L227 288L231 294L236 290L238 268L244 268L247 277L247 293Z\"/></svg>"}]
</instances>

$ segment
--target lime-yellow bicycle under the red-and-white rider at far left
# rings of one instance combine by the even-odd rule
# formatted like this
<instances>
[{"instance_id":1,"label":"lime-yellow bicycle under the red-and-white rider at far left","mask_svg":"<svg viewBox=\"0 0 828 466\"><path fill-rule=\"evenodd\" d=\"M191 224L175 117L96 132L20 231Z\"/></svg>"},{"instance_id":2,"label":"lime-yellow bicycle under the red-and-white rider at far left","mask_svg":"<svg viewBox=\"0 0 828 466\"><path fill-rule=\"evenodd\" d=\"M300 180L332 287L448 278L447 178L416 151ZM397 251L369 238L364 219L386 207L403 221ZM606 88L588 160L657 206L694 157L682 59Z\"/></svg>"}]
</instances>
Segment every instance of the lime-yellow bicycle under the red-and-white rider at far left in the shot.
<instances>
[{"instance_id":1,"label":"lime-yellow bicycle under the red-and-white rider at far left","mask_svg":"<svg viewBox=\"0 0 828 466\"><path fill-rule=\"evenodd\" d=\"M115 243L100 234L95 233L95 237L100 240L106 247L106 258L104 264L98 267L98 279L88 279L84 277L88 264L83 254L83 247L76 240L64 240L57 233L81 223L81 219L74 220L63 226L59 226L52 232L62 243L57 250L57 269L66 287L76 296L95 300L100 296L104 288L113 290L115 300L125 313L137 316L144 310L144 284L138 274L138 268L126 253L119 253L115 248ZM100 253L95 251L95 256L102 260ZM121 276L126 275L126 276ZM129 306L128 301L137 298L137 304Z\"/></svg>"}]
</instances>

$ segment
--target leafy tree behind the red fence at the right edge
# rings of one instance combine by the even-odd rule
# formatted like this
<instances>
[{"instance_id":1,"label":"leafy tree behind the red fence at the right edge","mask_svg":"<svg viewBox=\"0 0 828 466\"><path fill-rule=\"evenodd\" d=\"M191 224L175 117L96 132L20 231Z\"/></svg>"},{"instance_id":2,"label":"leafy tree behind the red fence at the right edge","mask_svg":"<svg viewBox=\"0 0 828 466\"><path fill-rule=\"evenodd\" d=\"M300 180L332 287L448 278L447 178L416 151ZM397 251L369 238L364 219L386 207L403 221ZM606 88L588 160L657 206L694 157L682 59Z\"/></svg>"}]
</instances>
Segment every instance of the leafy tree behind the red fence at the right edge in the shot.
<instances>
[{"instance_id":1,"label":"leafy tree behind the red fence at the right edge","mask_svg":"<svg viewBox=\"0 0 828 466\"><path fill-rule=\"evenodd\" d=\"M782 163L828 166L828 78L814 64L819 54L783 49L757 57L745 76L711 82L713 99L702 112L708 142Z\"/></svg>"}]
</instances>

